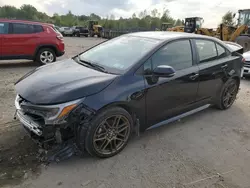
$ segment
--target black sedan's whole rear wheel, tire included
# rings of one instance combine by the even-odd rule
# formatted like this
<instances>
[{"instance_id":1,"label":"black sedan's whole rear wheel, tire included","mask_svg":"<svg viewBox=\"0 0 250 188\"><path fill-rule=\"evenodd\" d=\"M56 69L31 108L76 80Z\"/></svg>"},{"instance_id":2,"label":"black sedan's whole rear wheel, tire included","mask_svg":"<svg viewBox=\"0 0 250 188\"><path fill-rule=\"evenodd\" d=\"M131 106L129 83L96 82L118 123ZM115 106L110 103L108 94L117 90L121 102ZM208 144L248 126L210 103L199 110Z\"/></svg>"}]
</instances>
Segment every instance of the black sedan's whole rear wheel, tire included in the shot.
<instances>
[{"instance_id":1,"label":"black sedan's whole rear wheel, tire included","mask_svg":"<svg viewBox=\"0 0 250 188\"><path fill-rule=\"evenodd\" d=\"M235 88L232 89L231 87L235 87ZM232 93L230 94L230 97L229 97L230 99L228 100L229 104L227 105L225 104L227 101L226 97L228 97L226 95L227 95L227 92L231 90L232 90ZM216 99L215 106L220 110L226 110L230 108L236 99L238 91L239 91L238 81L235 79L229 79L221 88L219 97Z\"/></svg>"}]
</instances>

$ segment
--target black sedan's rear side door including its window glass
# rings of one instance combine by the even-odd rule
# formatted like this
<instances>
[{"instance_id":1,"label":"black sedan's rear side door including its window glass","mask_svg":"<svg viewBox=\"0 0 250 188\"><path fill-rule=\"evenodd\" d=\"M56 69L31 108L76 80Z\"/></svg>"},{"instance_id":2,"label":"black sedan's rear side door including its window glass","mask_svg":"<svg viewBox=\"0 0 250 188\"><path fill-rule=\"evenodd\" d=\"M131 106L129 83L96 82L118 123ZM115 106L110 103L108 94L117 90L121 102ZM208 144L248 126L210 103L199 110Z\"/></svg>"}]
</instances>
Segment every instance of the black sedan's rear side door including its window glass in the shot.
<instances>
[{"instance_id":1,"label":"black sedan's rear side door including its window glass","mask_svg":"<svg viewBox=\"0 0 250 188\"><path fill-rule=\"evenodd\" d=\"M193 40L199 67L199 90L197 100L214 99L222 87L237 57L219 43L209 39Z\"/></svg>"}]
</instances>

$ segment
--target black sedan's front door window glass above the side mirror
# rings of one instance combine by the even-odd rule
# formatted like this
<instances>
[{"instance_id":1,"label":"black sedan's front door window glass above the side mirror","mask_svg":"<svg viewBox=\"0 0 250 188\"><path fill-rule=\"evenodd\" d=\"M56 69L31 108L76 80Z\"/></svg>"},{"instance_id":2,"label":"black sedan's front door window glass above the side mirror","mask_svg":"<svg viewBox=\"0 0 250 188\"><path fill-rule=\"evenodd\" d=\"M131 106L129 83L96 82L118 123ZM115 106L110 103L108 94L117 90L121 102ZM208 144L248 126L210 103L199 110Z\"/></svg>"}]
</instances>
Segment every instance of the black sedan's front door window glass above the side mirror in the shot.
<instances>
[{"instance_id":1,"label":"black sedan's front door window glass above the side mirror","mask_svg":"<svg viewBox=\"0 0 250 188\"><path fill-rule=\"evenodd\" d=\"M189 68L193 65L192 50L189 40L175 41L167 44L152 56L153 69L159 65L168 65L175 70Z\"/></svg>"}]
</instances>

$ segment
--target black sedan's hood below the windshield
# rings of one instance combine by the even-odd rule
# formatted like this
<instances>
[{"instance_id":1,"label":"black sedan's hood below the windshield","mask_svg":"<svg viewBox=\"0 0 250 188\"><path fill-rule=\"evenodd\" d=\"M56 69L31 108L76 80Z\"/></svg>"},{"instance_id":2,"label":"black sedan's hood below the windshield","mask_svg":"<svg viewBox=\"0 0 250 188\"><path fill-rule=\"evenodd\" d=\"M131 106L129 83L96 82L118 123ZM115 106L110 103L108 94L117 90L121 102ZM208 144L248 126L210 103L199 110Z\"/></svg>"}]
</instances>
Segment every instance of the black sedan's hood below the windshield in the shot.
<instances>
[{"instance_id":1,"label":"black sedan's hood below the windshield","mask_svg":"<svg viewBox=\"0 0 250 188\"><path fill-rule=\"evenodd\" d=\"M15 88L33 104L58 104L98 93L116 77L68 59L34 69L18 80Z\"/></svg>"}]
</instances>

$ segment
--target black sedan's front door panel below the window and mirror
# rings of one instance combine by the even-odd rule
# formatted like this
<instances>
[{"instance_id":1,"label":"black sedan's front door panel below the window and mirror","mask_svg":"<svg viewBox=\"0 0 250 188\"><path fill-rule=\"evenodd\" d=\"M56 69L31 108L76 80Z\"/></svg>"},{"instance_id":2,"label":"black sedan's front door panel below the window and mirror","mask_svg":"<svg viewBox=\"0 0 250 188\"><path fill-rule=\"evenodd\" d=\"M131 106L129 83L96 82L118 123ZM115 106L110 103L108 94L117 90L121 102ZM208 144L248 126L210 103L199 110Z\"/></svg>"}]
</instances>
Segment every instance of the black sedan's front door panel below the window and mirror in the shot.
<instances>
[{"instance_id":1,"label":"black sedan's front door panel below the window and mirror","mask_svg":"<svg viewBox=\"0 0 250 188\"><path fill-rule=\"evenodd\" d=\"M145 76L148 125L185 111L195 103L199 82L190 76L198 71L198 66L193 66L177 71L172 78L159 78L157 82L152 81L152 76Z\"/></svg>"}]
</instances>

